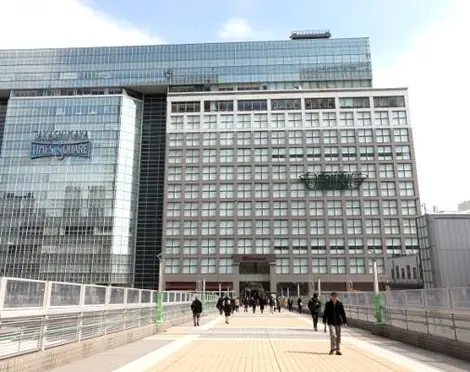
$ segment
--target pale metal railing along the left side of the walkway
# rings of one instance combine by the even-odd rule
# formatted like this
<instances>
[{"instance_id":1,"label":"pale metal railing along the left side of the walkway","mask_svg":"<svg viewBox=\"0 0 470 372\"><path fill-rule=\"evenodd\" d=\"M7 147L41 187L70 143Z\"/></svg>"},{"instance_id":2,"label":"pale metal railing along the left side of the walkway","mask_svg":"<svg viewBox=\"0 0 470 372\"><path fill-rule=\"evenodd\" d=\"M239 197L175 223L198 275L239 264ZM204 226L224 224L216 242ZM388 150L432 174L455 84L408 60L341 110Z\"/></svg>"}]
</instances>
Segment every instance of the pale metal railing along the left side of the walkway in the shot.
<instances>
[{"instance_id":1,"label":"pale metal railing along the left side of the walkway","mask_svg":"<svg viewBox=\"0 0 470 372\"><path fill-rule=\"evenodd\" d=\"M213 311L213 293L163 292L162 322L191 315L197 295ZM0 360L158 323L157 291L0 278Z\"/></svg>"}]
</instances>

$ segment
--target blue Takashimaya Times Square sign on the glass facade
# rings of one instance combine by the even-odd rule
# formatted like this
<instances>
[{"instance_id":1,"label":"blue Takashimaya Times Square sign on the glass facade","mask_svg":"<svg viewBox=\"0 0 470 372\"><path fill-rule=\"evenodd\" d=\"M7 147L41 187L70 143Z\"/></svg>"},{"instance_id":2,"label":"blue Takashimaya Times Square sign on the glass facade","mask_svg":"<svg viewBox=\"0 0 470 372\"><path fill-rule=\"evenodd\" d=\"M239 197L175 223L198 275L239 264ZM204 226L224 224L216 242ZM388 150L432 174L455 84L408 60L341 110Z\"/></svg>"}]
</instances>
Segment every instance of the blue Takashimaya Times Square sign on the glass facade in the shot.
<instances>
[{"instance_id":1,"label":"blue Takashimaya Times Square sign on the glass facade","mask_svg":"<svg viewBox=\"0 0 470 372\"><path fill-rule=\"evenodd\" d=\"M89 158L91 142L86 130L46 130L34 132L29 157L31 159L56 157Z\"/></svg>"}]
</instances>

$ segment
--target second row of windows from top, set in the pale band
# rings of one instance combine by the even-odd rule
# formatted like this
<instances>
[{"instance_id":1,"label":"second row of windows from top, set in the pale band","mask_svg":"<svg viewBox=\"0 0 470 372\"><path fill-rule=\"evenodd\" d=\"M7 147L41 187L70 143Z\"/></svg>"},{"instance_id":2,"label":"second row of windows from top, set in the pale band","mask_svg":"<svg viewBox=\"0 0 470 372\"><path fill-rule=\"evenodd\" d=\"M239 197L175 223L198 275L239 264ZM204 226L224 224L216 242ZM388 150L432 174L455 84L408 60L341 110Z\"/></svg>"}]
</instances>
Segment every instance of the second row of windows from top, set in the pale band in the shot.
<instances>
[{"instance_id":1,"label":"second row of windows from top, set in the pale band","mask_svg":"<svg viewBox=\"0 0 470 372\"><path fill-rule=\"evenodd\" d=\"M201 120L202 119L202 120ZM373 121L372 121L373 120ZM170 131L199 130L251 130L251 129L282 129L301 127L355 127L355 126L403 126L408 124L406 111L392 111L391 120L388 111L376 111L372 116L365 112L321 113L271 113L238 114L238 115L172 115Z\"/></svg>"}]
</instances>

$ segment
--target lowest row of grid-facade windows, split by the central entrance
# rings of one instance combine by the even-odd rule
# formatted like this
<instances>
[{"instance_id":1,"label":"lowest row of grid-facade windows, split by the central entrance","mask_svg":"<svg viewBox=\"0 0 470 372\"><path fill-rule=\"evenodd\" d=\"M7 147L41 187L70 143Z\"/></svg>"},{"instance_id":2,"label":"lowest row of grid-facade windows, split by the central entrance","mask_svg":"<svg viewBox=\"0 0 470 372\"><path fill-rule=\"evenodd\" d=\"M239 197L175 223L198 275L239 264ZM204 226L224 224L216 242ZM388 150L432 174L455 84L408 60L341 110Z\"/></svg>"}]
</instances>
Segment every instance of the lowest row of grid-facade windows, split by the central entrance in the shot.
<instances>
[{"instance_id":1,"label":"lowest row of grid-facade windows, split by the central entrance","mask_svg":"<svg viewBox=\"0 0 470 372\"><path fill-rule=\"evenodd\" d=\"M385 272L383 259L377 259L377 271ZM367 264L367 267L366 267ZM168 258L165 260L165 274L233 274L231 258ZM373 260L366 258L307 258L276 259L276 274L372 274Z\"/></svg>"}]
</instances>

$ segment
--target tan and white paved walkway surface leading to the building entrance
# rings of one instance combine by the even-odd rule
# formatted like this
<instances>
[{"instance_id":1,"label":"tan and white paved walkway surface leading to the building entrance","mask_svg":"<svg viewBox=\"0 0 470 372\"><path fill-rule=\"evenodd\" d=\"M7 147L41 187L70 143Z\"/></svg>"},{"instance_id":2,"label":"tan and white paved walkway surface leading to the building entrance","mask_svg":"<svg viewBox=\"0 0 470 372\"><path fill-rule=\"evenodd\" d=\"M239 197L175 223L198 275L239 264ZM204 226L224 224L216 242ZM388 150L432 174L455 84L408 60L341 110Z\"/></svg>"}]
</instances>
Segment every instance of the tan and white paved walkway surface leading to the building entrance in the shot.
<instances>
[{"instance_id":1,"label":"tan and white paved walkway surface leading to the building entrance","mask_svg":"<svg viewBox=\"0 0 470 372\"><path fill-rule=\"evenodd\" d=\"M53 372L470 371L470 363L345 328L342 356L306 315L236 313L203 318Z\"/></svg>"}]
</instances>

